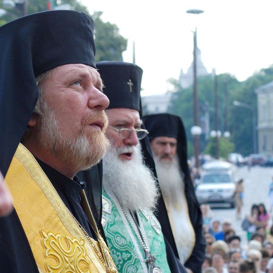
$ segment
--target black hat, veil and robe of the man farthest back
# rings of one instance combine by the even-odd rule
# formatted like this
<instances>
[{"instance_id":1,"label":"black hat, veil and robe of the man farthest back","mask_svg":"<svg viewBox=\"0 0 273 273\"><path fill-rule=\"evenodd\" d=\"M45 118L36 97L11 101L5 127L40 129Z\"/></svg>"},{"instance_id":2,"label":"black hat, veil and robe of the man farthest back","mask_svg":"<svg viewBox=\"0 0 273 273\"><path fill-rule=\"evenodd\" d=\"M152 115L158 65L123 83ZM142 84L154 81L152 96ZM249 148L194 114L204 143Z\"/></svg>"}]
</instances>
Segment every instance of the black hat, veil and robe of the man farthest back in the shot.
<instances>
[{"instance_id":1,"label":"black hat, veil and robe of the man farthest back","mask_svg":"<svg viewBox=\"0 0 273 273\"><path fill-rule=\"evenodd\" d=\"M149 131L148 137L150 140L158 136L167 136L177 139L177 156L179 159L180 169L184 173L185 197L187 199L190 221L195 232L195 245L190 258L184 265L185 267L190 268L194 273L201 273L201 266L204 261L206 246L202 230L203 218L199 203L195 196L194 186L190 178L190 170L187 163L187 138L183 122L180 117L167 113L147 115L143 117L143 121L146 129ZM148 153L145 155L147 157L147 164L154 168L154 164L152 160L149 159ZM157 217L161 223L163 234L167 237L174 253L178 257L171 228L162 224L164 223L164 218L166 218L165 214L164 209L159 209Z\"/></svg>"}]
</instances>

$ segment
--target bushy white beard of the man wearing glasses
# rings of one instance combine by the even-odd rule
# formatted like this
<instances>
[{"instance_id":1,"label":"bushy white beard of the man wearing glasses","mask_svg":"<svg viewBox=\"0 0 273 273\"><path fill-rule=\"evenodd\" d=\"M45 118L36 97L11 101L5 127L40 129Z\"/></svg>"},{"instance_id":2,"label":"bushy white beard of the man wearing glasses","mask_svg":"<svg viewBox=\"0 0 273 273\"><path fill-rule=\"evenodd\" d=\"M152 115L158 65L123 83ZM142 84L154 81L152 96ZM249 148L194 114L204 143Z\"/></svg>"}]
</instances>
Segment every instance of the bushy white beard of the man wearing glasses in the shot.
<instances>
[{"instance_id":1,"label":"bushy white beard of the man wearing glasses","mask_svg":"<svg viewBox=\"0 0 273 273\"><path fill-rule=\"evenodd\" d=\"M126 152L133 153L131 160L118 157ZM159 190L156 178L143 161L139 143L124 148L111 145L103 158L103 183L110 185L123 209L155 211Z\"/></svg>"}]
</instances>

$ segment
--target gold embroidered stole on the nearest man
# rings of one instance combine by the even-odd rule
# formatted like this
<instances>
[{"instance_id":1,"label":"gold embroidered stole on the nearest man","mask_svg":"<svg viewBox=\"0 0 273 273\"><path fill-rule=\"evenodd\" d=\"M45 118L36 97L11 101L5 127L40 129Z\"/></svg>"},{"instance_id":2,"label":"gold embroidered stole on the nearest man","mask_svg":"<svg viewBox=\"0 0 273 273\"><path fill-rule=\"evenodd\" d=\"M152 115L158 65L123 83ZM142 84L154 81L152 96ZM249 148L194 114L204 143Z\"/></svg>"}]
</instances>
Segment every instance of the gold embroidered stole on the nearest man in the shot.
<instances>
[{"instance_id":1,"label":"gold embroidered stole on the nearest man","mask_svg":"<svg viewBox=\"0 0 273 273\"><path fill-rule=\"evenodd\" d=\"M91 238L98 252L92 247L42 168L21 143L5 181L40 272L106 272L99 258L99 254L105 258L102 244L114 265L105 242ZM84 192L82 195L86 201ZM93 219L89 208L89 219L90 214Z\"/></svg>"}]
</instances>

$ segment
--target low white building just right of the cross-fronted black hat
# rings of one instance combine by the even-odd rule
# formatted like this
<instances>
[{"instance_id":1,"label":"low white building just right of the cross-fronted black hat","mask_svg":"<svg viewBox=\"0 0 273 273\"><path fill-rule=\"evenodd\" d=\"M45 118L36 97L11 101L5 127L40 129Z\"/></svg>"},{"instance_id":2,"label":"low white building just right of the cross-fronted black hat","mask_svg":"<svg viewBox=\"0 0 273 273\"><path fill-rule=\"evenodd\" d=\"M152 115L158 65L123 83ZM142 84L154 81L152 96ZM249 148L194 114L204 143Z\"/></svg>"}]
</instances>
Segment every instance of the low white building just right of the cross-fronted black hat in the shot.
<instances>
[{"instance_id":1,"label":"low white building just right of the cross-fronted black hat","mask_svg":"<svg viewBox=\"0 0 273 273\"><path fill-rule=\"evenodd\" d=\"M141 97L145 114L166 113L171 99L170 93Z\"/></svg>"}]
</instances>

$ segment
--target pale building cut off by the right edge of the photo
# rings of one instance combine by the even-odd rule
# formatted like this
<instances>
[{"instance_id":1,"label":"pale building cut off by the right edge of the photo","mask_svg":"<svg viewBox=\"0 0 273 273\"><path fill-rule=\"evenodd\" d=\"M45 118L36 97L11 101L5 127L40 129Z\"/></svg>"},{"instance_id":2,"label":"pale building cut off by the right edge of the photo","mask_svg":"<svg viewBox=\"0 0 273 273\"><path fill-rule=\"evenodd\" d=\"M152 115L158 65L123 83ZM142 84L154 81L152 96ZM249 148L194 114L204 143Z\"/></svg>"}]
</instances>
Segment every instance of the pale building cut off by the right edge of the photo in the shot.
<instances>
[{"instance_id":1,"label":"pale building cut off by the right edge of the photo","mask_svg":"<svg viewBox=\"0 0 273 273\"><path fill-rule=\"evenodd\" d=\"M273 153L273 81L255 89L259 153Z\"/></svg>"}]
</instances>

